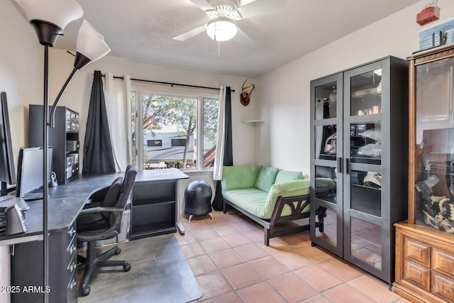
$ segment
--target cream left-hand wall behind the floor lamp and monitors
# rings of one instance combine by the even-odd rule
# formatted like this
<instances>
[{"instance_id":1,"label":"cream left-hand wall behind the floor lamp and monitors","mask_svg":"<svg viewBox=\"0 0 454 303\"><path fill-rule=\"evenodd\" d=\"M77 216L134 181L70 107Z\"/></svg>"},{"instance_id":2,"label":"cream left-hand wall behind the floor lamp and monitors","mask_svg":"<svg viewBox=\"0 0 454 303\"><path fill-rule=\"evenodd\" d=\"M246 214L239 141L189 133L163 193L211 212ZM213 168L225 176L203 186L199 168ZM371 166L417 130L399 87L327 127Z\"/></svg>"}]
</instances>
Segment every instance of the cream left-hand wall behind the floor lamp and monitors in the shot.
<instances>
[{"instance_id":1,"label":"cream left-hand wall behind the floor lamp and monitors","mask_svg":"<svg viewBox=\"0 0 454 303\"><path fill-rule=\"evenodd\" d=\"M10 1L0 1L0 92L8 97L14 160L26 143L28 102L43 99L43 48ZM0 285L10 285L9 246L0 246ZM1 292L0 302L9 302Z\"/></svg>"}]
</instances>

